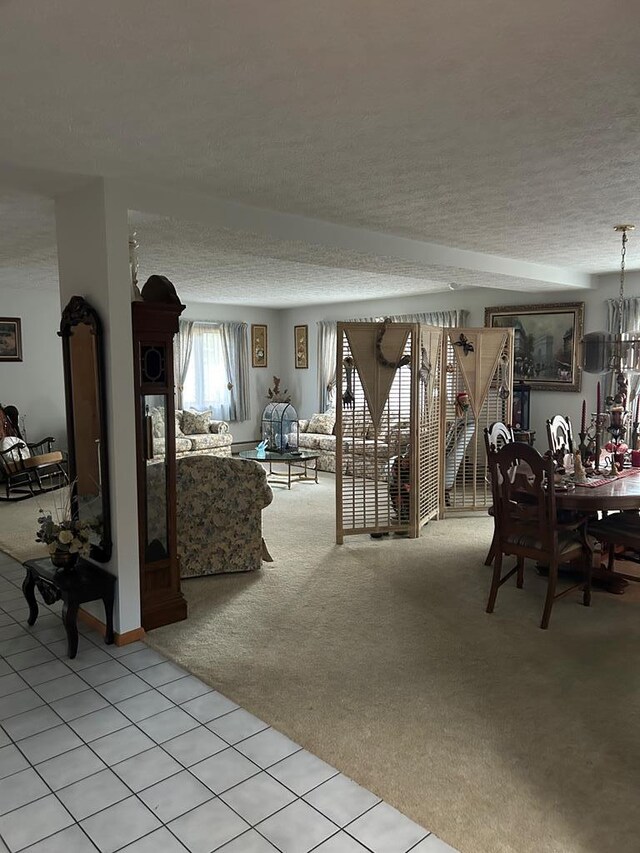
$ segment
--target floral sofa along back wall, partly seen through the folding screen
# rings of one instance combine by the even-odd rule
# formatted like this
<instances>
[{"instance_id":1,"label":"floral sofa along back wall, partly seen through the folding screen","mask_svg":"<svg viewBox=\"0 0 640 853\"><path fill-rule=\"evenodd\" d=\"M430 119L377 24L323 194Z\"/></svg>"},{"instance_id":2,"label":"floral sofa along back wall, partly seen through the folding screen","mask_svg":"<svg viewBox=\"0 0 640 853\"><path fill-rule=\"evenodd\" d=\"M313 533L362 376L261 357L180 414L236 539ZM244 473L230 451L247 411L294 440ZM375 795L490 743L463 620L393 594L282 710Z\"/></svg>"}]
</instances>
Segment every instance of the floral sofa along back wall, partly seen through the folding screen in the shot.
<instances>
[{"instance_id":1,"label":"floral sofa along back wall, partly seen through the folding screen","mask_svg":"<svg viewBox=\"0 0 640 853\"><path fill-rule=\"evenodd\" d=\"M336 470L336 416L334 411L314 414L299 421L298 447L318 452L318 470ZM409 444L409 423L400 421L382 429L377 441L371 421L345 414L343 419L343 463L346 476L386 480L390 460L405 453Z\"/></svg>"}]
</instances>

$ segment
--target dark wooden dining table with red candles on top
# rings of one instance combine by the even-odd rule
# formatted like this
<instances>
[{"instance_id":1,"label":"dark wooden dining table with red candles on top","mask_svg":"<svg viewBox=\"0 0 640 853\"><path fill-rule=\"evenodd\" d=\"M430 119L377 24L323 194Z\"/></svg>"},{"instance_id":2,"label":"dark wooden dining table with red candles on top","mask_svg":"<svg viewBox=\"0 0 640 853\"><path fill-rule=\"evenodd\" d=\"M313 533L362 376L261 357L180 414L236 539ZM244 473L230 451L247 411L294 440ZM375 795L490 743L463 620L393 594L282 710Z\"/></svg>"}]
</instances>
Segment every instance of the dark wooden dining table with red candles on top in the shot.
<instances>
[{"instance_id":1,"label":"dark wooden dining table with red candles on top","mask_svg":"<svg viewBox=\"0 0 640 853\"><path fill-rule=\"evenodd\" d=\"M556 507L585 515L598 512L640 510L640 468L625 468L617 477L596 475L587 484L570 483L556 489ZM625 578L616 576L605 565L594 569L594 581L609 592L621 594L628 586Z\"/></svg>"}]
</instances>

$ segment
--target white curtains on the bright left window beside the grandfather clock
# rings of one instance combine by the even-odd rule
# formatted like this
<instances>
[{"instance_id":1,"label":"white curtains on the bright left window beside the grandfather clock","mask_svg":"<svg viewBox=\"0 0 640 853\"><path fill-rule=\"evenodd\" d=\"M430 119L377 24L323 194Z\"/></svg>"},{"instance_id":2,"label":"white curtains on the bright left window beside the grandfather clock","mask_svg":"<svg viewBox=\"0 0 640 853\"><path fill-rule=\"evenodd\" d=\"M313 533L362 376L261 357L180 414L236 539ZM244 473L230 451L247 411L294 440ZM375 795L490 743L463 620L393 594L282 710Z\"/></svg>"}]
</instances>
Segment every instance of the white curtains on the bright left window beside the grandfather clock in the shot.
<instances>
[{"instance_id":1,"label":"white curtains on the bright left window beside the grandfather clock","mask_svg":"<svg viewBox=\"0 0 640 853\"><path fill-rule=\"evenodd\" d=\"M185 409L210 409L214 419L246 420L246 323L194 322L191 356L185 370Z\"/></svg>"}]
</instances>

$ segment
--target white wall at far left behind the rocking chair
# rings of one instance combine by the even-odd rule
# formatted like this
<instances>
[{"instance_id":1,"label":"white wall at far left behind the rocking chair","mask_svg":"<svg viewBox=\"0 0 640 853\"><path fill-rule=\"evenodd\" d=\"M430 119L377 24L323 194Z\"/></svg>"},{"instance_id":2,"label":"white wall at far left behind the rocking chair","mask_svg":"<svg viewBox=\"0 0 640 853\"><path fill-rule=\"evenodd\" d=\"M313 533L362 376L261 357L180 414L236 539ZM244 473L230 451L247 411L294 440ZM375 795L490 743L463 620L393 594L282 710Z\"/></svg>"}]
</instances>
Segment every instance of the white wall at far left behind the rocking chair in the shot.
<instances>
[{"instance_id":1,"label":"white wall at far left behind the rocking chair","mask_svg":"<svg viewBox=\"0 0 640 853\"><path fill-rule=\"evenodd\" d=\"M0 403L25 416L28 441L52 435L56 448L66 449L58 289L18 289L3 281L0 316L21 319L23 356L23 361L0 362Z\"/></svg>"}]
</instances>

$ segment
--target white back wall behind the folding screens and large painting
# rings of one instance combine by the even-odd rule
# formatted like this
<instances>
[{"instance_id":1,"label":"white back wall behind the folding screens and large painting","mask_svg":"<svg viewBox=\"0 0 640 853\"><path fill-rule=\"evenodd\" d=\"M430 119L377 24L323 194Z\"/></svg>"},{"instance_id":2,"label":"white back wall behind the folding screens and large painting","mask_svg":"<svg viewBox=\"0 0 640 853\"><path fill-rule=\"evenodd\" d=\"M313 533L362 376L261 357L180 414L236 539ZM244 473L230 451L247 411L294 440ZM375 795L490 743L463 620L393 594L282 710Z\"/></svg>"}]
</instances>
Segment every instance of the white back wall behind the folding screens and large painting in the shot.
<instances>
[{"instance_id":1,"label":"white back wall behind the folding screens and large painting","mask_svg":"<svg viewBox=\"0 0 640 853\"><path fill-rule=\"evenodd\" d=\"M537 305L553 302L584 302L584 331L606 328L606 299L617 299L619 276L601 276L594 290L562 290L546 294L522 291L469 288L432 296L406 299L379 299L366 302L344 302L314 308L295 308L282 312L281 363L283 381L293 392L300 417L309 417L318 409L316 382L317 322L319 320L346 320L358 317L384 317L386 314L410 314L421 311L444 311L465 308L469 311L470 327L484 326L484 310L490 306ZM628 273L625 279L625 296L640 296L640 273ZM306 323L309 326L309 370L296 370L293 364L293 327ZM577 429L580 424L582 400L587 400L588 411L595 410L596 384L599 377L583 374L582 390L578 392L533 391L531 393L531 429L536 430L536 447L546 448L545 421L554 414L569 415Z\"/></svg>"}]
</instances>

